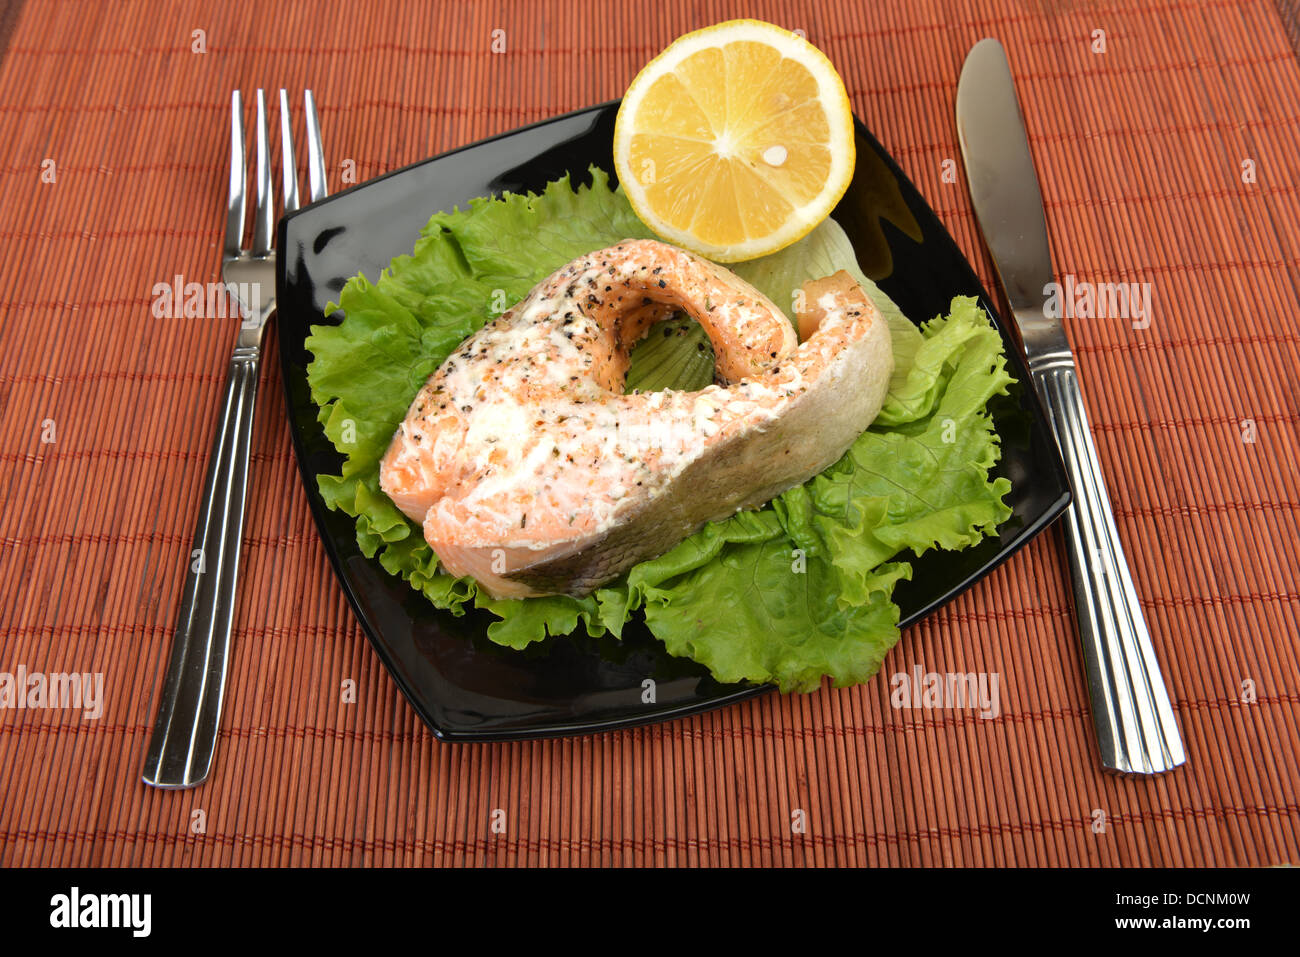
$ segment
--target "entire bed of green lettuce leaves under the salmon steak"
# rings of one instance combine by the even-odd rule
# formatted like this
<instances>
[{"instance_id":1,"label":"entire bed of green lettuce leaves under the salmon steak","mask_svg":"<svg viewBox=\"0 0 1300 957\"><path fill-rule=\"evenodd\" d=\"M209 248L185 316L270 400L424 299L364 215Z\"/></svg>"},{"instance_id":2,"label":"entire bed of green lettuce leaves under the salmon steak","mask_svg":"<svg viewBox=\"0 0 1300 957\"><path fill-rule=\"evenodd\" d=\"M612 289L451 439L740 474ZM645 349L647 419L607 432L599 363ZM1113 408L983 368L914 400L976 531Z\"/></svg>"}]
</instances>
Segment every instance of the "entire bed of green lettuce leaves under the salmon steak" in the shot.
<instances>
[{"instance_id":1,"label":"entire bed of green lettuce leaves under the salmon steak","mask_svg":"<svg viewBox=\"0 0 1300 957\"><path fill-rule=\"evenodd\" d=\"M651 235L599 169L541 194L477 199L436 213L410 256L339 294L338 325L313 326L312 398L334 446L338 476L320 478L332 508L356 519L358 544L433 605L499 618L493 641L524 648L580 625L621 633L638 610L675 655L722 681L774 681L810 690L823 677L870 677L898 638L894 584L909 553L957 549L1009 514L1006 480L989 481L998 446L988 399L1006 390L1001 339L974 300L913 325L858 269L852 244L827 220L798 243L736 268L786 308L809 278L846 269L889 321L894 374L876 423L845 456L760 510L712 523L595 594L497 601L445 573L378 488L378 463L411 398L452 348L576 256ZM667 334L666 334L667 330ZM698 324L666 322L637 347L628 387L698 389L712 356Z\"/></svg>"}]
</instances>

